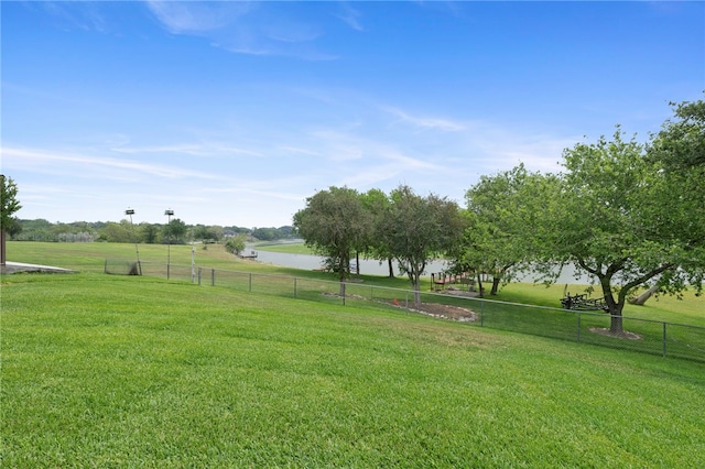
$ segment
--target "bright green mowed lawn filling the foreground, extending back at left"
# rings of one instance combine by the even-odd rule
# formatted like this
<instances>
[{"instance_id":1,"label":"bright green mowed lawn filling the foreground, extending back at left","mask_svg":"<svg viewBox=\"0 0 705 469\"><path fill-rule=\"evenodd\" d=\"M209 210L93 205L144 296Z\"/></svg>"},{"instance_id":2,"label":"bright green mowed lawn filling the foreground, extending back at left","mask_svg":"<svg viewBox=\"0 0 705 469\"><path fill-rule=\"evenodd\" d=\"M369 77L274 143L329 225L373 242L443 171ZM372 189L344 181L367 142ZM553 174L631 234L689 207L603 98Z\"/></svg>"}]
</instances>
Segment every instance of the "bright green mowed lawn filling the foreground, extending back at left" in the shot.
<instances>
[{"instance_id":1,"label":"bright green mowed lawn filling the foreground, extending back at left","mask_svg":"<svg viewBox=\"0 0 705 469\"><path fill-rule=\"evenodd\" d=\"M705 467L703 363L20 244L80 272L2 277L2 467Z\"/></svg>"}]
</instances>

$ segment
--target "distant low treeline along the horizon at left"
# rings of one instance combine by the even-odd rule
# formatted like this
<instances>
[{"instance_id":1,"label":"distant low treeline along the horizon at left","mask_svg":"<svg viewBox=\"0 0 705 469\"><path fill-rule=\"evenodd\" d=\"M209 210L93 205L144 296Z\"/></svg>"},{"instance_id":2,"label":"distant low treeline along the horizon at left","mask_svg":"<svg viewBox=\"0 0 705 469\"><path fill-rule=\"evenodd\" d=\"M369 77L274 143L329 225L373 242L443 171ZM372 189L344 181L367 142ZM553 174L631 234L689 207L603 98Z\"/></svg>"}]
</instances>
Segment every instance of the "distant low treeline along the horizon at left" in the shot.
<instances>
[{"instance_id":1,"label":"distant low treeline along the horizon at left","mask_svg":"<svg viewBox=\"0 0 705 469\"><path fill-rule=\"evenodd\" d=\"M294 237L294 228L243 228L218 225L186 225L175 218L169 223L134 223L123 219L115 221L74 221L52 223L45 219L17 219L8 229L9 239L14 241L50 242L140 242L140 243L185 243L221 242L229 237L246 234L249 238L272 241Z\"/></svg>"}]
</instances>

